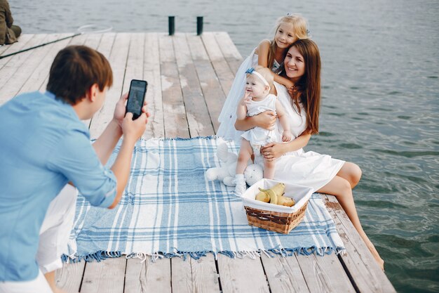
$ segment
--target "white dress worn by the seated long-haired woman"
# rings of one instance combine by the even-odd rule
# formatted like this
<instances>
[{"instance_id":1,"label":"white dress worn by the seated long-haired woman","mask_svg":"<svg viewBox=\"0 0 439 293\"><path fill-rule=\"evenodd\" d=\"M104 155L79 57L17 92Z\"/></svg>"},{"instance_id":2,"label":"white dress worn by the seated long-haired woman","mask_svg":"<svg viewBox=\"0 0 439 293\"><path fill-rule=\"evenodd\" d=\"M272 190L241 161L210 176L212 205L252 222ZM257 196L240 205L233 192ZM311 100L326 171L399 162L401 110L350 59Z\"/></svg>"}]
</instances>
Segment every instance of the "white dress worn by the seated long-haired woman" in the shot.
<instances>
[{"instance_id":1,"label":"white dress worn by the seated long-haired woman","mask_svg":"<svg viewBox=\"0 0 439 293\"><path fill-rule=\"evenodd\" d=\"M306 129L306 113L302 108L300 114L293 108L290 102L290 95L285 86L274 82L278 92L278 100L285 108L285 113L290 121L292 139L300 136ZM278 132L282 135L283 129L278 123ZM255 158L258 163L263 163L263 157ZM276 171L274 180L305 185L319 190L334 178L343 167L344 161L333 159L329 155L320 155L317 152L305 152L302 148L294 152L288 152L276 160Z\"/></svg>"}]
</instances>

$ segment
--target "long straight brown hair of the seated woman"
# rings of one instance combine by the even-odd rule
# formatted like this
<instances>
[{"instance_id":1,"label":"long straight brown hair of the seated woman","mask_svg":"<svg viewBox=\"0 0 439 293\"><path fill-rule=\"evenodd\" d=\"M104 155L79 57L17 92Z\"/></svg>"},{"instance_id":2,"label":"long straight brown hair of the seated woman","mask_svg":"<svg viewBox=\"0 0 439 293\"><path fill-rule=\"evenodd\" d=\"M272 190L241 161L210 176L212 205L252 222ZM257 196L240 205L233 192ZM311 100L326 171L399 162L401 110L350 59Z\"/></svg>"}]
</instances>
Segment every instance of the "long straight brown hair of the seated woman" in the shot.
<instances>
[{"instance_id":1,"label":"long straight brown hair of the seated woman","mask_svg":"<svg viewBox=\"0 0 439 293\"><path fill-rule=\"evenodd\" d=\"M292 44L292 47L297 48L303 56L305 72L295 84L291 103L294 103L299 111L299 103L302 103L306 112L306 131L309 134L317 134L320 113L320 52L316 43L310 39L300 39ZM283 70L283 76L288 78L285 70Z\"/></svg>"}]
</instances>

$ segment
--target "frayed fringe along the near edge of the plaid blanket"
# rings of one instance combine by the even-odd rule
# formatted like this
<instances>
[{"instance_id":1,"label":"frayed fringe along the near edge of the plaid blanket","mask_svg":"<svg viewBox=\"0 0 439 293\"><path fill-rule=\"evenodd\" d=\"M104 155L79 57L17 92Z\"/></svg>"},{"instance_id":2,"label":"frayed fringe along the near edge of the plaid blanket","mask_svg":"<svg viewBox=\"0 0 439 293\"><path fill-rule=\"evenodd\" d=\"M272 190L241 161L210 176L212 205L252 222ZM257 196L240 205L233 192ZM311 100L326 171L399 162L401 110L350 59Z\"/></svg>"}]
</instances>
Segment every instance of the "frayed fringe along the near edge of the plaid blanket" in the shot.
<instances>
[{"instance_id":1,"label":"frayed fringe along the near edge of the plaid blanket","mask_svg":"<svg viewBox=\"0 0 439 293\"><path fill-rule=\"evenodd\" d=\"M140 259L141 262L147 261L147 256L151 256L151 261L155 262L158 259L170 259L173 257L180 257L184 261L188 258L188 256L191 259L201 259L201 257L206 256L207 254L212 254L215 259L218 259L218 254L222 254L225 256L229 256L231 259L243 259L244 257L248 257L250 259L257 259L262 254L265 254L269 257L274 257L276 255L287 257L287 256L293 256L293 255L311 255L316 254L318 256L324 256L326 254L331 254L332 252L335 252L335 254L346 254L346 249L344 247L297 247L297 248L282 248L282 247L275 247L273 249L259 249L256 251L243 251L243 252L231 252L231 251L221 251L221 252L212 252L212 251L201 251L201 252L180 252L178 249L174 247L173 252L163 253L163 252L154 252L153 254L145 254L142 252L137 253L131 253L131 254L125 254L123 252L105 252L105 251L98 251L93 254L87 254L87 255L79 255L79 256L68 256L67 254L63 254L61 256L61 259L65 263L76 263L79 261L102 261L104 259L110 259L120 256L126 256L127 259Z\"/></svg>"}]
</instances>

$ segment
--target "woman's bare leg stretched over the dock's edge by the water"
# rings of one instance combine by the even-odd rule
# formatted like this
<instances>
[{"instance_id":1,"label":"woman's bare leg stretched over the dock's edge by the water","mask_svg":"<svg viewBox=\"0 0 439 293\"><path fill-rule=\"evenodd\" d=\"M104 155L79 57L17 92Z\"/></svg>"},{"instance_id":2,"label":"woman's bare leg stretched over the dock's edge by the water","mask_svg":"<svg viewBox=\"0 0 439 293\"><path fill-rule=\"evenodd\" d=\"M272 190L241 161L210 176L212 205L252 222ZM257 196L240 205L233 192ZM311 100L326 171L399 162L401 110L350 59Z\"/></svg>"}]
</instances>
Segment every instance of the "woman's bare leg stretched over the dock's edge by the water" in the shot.
<instances>
[{"instance_id":1,"label":"woman's bare leg stretched over the dock's edge by the water","mask_svg":"<svg viewBox=\"0 0 439 293\"><path fill-rule=\"evenodd\" d=\"M360 219L358 219L357 209L355 207L355 203L353 202L351 183L345 178L335 176L332 178L330 183L327 183L325 186L323 186L323 188L320 188L318 192L335 195L337 197L337 200L342 205L344 211L346 211L346 214L349 216L353 226L358 231L358 234L360 234L360 237L363 239L367 248L374 256L375 261L377 261L380 268L384 271L384 261L379 256L377 249L375 249L374 245L369 240L369 237L367 237L363 227L361 226Z\"/></svg>"}]
</instances>

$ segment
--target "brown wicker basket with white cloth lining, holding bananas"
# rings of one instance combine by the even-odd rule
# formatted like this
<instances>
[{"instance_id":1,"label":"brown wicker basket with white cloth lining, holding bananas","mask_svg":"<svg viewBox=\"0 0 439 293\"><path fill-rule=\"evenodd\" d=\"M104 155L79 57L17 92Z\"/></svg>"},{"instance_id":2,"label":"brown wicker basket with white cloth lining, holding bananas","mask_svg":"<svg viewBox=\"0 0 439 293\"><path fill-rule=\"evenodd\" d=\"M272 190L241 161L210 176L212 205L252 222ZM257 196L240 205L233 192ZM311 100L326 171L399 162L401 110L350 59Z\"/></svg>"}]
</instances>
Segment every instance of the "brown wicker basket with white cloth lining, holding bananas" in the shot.
<instances>
[{"instance_id":1,"label":"brown wicker basket with white cloth lining, holding bananas","mask_svg":"<svg viewBox=\"0 0 439 293\"><path fill-rule=\"evenodd\" d=\"M268 188L276 183L278 182L268 179L258 181L244 193L243 205L250 226L288 234L304 219L309 197L311 197L313 190L302 185L285 184L285 195L288 196L288 192L295 195L296 204L293 207L283 207L255 200L255 195L259 191L258 187Z\"/></svg>"}]
</instances>

